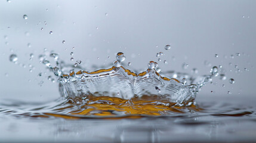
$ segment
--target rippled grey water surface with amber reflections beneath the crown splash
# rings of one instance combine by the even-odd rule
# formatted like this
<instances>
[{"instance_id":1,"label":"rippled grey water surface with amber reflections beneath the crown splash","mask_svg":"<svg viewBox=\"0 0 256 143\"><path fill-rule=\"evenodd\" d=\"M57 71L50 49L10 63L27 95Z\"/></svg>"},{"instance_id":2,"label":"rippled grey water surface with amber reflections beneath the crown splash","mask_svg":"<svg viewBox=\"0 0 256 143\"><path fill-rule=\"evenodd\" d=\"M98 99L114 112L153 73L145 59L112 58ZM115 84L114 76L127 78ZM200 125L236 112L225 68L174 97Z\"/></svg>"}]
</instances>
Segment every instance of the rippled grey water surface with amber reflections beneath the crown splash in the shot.
<instances>
[{"instance_id":1,"label":"rippled grey water surface with amber reflections beneath the crown splash","mask_svg":"<svg viewBox=\"0 0 256 143\"><path fill-rule=\"evenodd\" d=\"M199 97L197 104L189 107L146 101L138 104L134 101L130 105L119 98L107 100L115 104L94 103L90 104L91 110L89 105L63 99L41 104L1 102L1 129L6 130L0 135L1 141L241 142L256 139L256 106L250 99Z\"/></svg>"}]
</instances>

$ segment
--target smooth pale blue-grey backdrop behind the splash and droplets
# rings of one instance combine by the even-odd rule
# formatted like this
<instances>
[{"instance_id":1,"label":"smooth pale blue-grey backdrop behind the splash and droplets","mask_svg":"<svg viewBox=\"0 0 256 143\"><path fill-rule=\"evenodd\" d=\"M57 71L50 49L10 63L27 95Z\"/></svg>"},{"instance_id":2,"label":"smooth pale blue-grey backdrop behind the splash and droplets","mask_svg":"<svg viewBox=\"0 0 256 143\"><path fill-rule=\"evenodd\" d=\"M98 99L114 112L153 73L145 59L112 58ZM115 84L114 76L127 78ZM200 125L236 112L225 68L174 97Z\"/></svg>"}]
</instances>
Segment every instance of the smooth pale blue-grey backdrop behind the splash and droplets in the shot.
<instances>
[{"instance_id":1,"label":"smooth pale blue-grey backdrop behind the splash and droplets","mask_svg":"<svg viewBox=\"0 0 256 143\"><path fill-rule=\"evenodd\" d=\"M157 61L155 55L160 51L164 52L162 60L168 61L167 65L159 62L165 71L190 72L196 67L198 74L208 74L211 67L203 64L207 60L212 66L223 66L227 79L233 77L236 82L232 85L217 77L213 80L217 85L205 86L198 98L238 96L255 100L255 6L256 1L1 0L0 100L50 101L59 97L57 84L47 80L50 73L38 61L44 48L58 52L67 63L82 60L98 66L112 63L115 53L122 51L126 62L140 70L146 70L150 60ZM24 14L27 20L23 19ZM53 35L49 34L51 30ZM27 43L32 46L27 47ZM166 44L172 46L168 51L164 49ZM73 62L69 60L72 51ZM241 56L236 56L236 52ZM9 61L13 53L26 68ZM35 54L32 61L30 53ZM215 54L219 57L215 58ZM230 58L231 54L235 58ZM181 68L183 63L189 64L187 70ZM31 73L28 64L35 66ZM235 65L241 73L235 72ZM244 71L244 67L249 71ZM44 71L47 74L38 77ZM39 86L41 80L44 83Z\"/></svg>"}]
</instances>

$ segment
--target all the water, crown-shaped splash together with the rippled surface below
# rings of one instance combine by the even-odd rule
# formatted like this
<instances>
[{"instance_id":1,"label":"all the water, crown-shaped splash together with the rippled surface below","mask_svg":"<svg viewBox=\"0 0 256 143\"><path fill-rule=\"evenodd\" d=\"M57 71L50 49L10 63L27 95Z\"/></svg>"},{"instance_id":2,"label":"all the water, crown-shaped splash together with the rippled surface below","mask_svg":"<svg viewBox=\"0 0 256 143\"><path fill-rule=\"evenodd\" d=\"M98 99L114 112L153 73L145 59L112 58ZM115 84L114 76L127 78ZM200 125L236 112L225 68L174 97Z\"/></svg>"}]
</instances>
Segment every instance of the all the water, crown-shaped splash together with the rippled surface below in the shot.
<instances>
[{"instance_id":1,"label":"all the water, crown-shaped splash together with the rippled surface below","mask_svg":"<svg viewBox=\"0 0 256 143\"><path fill-rule=\"evenodd\" d=\"M212 78L223 80L225 74L218 67L205 76L176 71L159 74L158 64L150 61L146 71L135 73L122 65L125 55L121 52L112 67L92 72L82 70L81 61L66 65L54 53L40 55L39 60L53 71L55 78L48 79L56 79L61 97L42 103L1 101L1 129L7 130L0 135L2 141L10 141L10 135L26 130L25 126L30 126L35 137L24 134L11 141L69 142L74 136L77 142L255 139L251 126L256 121L254 101L223 97L196 100ZM17 56L10 55L10 61L17 61Z\"/></svg>"}]
</instances>

